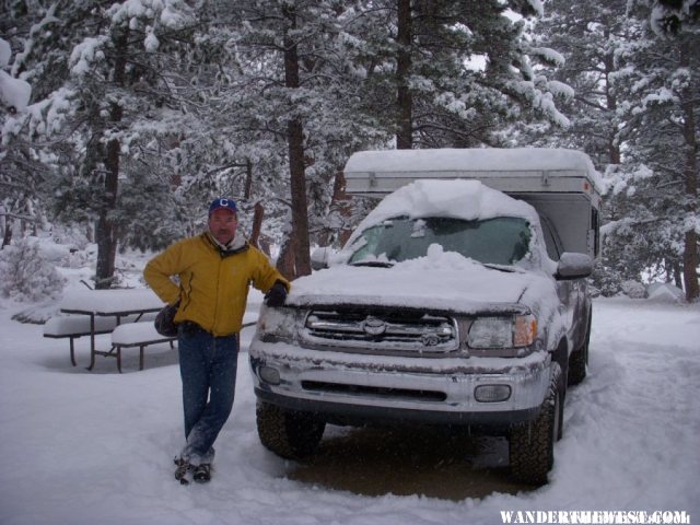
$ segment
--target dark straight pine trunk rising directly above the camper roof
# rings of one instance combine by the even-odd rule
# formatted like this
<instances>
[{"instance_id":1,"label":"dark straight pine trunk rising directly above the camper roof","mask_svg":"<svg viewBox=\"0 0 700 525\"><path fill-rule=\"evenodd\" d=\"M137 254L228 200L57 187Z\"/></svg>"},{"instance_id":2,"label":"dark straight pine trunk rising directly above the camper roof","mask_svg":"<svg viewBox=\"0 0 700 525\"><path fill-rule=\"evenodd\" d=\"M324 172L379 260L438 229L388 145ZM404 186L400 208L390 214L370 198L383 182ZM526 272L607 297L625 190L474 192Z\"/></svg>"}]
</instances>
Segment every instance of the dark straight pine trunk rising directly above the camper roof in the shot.
<instances>
[{"instance_id":1,"label":"dark straight pine trunk rising directly above the camper roof","mask_svg":"<svg viewBox=\"0 0 700 525\"><path fill-rule=\"evenodd\" d=\"M413 147L412 109L413 101L408 85L411 69L411 1L397 0L398 33L396 42L398 52L396 57L397 86L397 130L396 148L410 150Z\"/></svg>"}]
</instances>

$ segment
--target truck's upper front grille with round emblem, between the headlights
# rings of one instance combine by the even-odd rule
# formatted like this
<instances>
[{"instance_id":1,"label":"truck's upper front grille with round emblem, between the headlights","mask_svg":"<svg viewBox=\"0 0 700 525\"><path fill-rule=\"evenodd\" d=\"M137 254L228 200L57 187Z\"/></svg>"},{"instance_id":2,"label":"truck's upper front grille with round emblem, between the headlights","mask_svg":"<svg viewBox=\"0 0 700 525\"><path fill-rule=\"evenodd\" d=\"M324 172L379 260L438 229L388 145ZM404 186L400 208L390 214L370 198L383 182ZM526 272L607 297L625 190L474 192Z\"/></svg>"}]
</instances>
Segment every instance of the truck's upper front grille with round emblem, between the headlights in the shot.
<instances>
[{"instance_id":1,"label":"truck's upper front grille with round emblem, between the headlights","mask_svg":"<svg viewBox=\"0 0 700 525\"><path fill-rule=\"evenodd\" d=\"M303 337L316 347L365 353L429 355L459 347L454 319L416 311L314 310Z\"/></svg>"}]
</instances>

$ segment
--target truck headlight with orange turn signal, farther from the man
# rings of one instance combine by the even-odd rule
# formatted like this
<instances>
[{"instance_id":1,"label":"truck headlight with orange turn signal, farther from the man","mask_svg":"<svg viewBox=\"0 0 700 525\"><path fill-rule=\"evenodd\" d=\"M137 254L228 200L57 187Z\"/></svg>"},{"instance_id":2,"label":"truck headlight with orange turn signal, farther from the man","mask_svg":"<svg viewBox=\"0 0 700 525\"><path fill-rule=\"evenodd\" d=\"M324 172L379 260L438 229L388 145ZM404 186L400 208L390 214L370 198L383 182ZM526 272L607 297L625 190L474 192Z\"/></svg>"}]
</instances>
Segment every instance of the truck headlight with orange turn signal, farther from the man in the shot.
<instances>
[{"instance_id":1,"label":"truck headlight with orange turn signal, farther from the man","mask_svg":"<svg viewBox=\"0 0 700 525\"><path fill-rule=\"evenodd\" d=\"M470 348L527 347L537 337L537 319L533 315L477 317L469 327Z\"/></svg>"}]
</instances>

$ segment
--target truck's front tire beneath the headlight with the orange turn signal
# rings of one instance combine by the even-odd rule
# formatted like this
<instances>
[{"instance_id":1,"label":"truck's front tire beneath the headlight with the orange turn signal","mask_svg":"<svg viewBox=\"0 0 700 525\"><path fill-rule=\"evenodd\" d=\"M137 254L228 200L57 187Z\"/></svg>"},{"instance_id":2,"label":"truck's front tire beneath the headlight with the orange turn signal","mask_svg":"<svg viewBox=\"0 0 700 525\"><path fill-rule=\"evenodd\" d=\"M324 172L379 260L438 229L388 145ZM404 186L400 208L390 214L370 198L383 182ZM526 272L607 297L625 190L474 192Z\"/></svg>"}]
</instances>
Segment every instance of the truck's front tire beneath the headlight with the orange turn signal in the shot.
<instances>
[{"instance_id":1,"label":"truck's front tire beneath the headlight with the orange turn signal","mask_svg":"<svg viewBox=\"0 0 700 525\"><path fill-rule=\"evenodd\" d=\"M517 481L541 486L555 464L555 442L560 435L561 368L553 363L549 392L537 419L514 427L510 433L511 474Z\"/></svg>"}]
</instances>

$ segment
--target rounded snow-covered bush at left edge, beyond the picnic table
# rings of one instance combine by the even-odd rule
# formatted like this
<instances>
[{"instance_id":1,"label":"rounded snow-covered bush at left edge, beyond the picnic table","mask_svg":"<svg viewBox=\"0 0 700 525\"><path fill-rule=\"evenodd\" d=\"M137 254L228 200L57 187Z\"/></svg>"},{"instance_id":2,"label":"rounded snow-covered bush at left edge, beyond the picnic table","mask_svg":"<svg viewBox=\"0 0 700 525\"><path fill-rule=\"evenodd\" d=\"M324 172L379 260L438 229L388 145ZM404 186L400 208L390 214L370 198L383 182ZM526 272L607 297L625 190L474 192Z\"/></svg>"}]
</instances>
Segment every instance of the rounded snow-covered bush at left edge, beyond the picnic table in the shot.
<instances>
[{"instance_id":1,"label":"rounded snow-covered bush at left edge, beyond the picnic table","mask_svg":"<svg viewBox=\"0 0 700 525\"><path fill-rule=\"evenodd\" d=\"M36 302L57 298L66 280L39 250L37 243L26 238L0 250L0 292L18 301Z\"/></svg>"}]
</instances>

